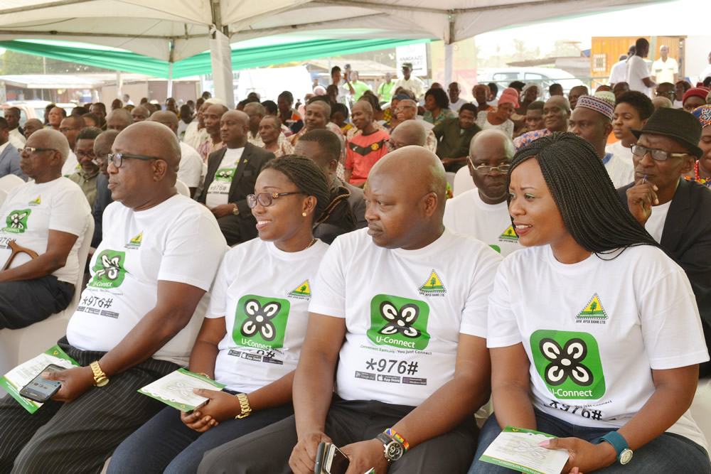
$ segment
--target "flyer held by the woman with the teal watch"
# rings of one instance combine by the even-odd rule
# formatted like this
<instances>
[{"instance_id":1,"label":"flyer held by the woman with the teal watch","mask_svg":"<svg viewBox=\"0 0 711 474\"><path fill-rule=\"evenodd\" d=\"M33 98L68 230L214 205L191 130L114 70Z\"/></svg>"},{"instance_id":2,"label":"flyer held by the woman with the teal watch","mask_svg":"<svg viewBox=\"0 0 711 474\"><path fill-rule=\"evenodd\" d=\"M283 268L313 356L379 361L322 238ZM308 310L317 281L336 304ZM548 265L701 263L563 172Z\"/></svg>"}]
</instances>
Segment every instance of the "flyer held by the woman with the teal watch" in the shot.
<instances>
[{"instance_id":1,"label":"flyer held by the woman with the teal watch","mask_svg":"<svg viewBox=\"0 0 711 474\"><path fill-rule=\"evenodd\" d=\"M565 449L546 449L538 443L555 436L506 426L479 460L528 474L560 474L568 460Z\"/></svg>"}]
</instances>

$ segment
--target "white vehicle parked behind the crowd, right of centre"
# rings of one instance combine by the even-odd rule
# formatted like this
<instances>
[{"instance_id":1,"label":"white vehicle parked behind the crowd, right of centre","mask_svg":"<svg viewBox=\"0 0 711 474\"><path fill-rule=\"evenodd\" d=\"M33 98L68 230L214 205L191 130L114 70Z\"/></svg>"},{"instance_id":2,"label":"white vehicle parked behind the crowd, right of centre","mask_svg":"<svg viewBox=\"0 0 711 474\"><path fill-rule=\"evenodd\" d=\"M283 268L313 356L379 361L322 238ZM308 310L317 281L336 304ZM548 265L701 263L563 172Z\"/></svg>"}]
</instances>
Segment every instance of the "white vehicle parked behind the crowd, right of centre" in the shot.
<instances>
[{"instance_id":1,"label":"white vehicle parked behind the crowd, right of centre","mask_svg":"<svg viewBox=\"0 0 711 474\"><path fill-rule=\"evenodd\" d=\"M570 72L555 68L486 68L476 72L476 82L479 84L496 82L499 94L515 80L527 84L528 82L540 84L544 98L550 97L548 87L555 82L563 86L563 93L566 97L573 87L585 85L582 80L576 79Z\"/></svg>"}]
</instances>

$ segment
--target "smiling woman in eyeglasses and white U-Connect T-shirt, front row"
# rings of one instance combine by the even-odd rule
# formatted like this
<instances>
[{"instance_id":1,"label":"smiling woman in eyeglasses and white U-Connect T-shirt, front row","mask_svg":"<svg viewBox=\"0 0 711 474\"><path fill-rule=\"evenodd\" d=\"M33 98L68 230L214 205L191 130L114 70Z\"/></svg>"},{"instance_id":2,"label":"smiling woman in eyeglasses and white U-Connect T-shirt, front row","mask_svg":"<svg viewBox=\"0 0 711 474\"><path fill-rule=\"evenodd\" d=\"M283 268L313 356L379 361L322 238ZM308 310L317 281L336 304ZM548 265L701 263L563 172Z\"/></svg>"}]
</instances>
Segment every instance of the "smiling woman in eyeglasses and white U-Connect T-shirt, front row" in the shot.
<instances>
[{"instance_id":1,"label":"smiling woman in eyeglasses and white U-Connect T-shirt, front row","mask_svg":"<svg viewBox=\"0 0 711 474\"><path fill-rule=\"evenodd\" d=\"M247 204L260 238L225 255L190 359L225 389L199 391L210 401L193 414L161 411L117 448L109 473L194 473L205 451L294 413L311 284L328 248L311 228L353 230L355 218L348 195L303 156L269 161Z\"/></svg>"}]
</instances>

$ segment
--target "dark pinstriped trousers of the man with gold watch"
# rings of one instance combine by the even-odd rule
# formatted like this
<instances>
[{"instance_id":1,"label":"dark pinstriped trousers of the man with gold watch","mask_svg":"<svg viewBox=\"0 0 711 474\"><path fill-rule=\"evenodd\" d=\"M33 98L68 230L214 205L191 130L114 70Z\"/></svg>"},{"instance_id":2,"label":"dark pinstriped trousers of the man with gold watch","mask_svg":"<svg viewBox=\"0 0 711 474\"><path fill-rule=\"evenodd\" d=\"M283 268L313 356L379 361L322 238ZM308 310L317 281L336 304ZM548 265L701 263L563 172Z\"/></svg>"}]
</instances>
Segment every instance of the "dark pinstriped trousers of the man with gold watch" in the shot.
<instances>
[{"instance_id":1,"label":"dark pinstriped trousers of the man with gold watch","mask_svg":"<svg viewBox=\"0 0 711 474\"><path fill-rule=\"evenodd\" d=\"M73 348L67 338L58 344L82 366L105 354ZM165 407L137 390L177 368L149 359L74 402L50 400L34 414L5 397L0 401L0 473L100 473L114 448Z\"/></svg>"}]
</instances>

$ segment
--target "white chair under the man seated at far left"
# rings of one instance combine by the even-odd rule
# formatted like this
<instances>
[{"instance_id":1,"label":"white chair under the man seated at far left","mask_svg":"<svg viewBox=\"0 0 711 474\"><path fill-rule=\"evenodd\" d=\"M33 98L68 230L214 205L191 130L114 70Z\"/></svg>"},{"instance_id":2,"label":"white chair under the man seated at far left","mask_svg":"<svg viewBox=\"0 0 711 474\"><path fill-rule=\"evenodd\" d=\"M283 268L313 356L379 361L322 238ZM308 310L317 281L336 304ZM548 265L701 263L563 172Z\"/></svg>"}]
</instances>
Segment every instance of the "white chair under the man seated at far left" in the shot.
<instances>
[{"instance_id":1,"label":"white chair under the man seated at far left","mask_svg":"<svg viewBox=\"0 0 711 474\"><path fill-rule=\"evenodd\" d=\"M94 235L94 219L89 215L84 239L77 252L79 275L75 282L74 297L69 306L64 311L54 313L46 320L39 321L26 328L0 330L0 369L4 369L0 370L0 375L6 374L8 370L16 367L20 362L29 360L48 350L67 333L67 325L77 306L79 306L79 300L82 295L84 268L89 255L92 235ZM2 396L4 396L4 390L0 389L0 397Z\"/></svg>"}]
</instances>

